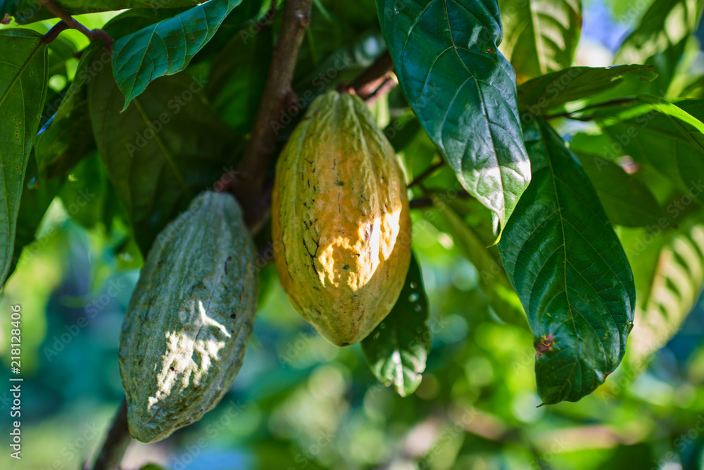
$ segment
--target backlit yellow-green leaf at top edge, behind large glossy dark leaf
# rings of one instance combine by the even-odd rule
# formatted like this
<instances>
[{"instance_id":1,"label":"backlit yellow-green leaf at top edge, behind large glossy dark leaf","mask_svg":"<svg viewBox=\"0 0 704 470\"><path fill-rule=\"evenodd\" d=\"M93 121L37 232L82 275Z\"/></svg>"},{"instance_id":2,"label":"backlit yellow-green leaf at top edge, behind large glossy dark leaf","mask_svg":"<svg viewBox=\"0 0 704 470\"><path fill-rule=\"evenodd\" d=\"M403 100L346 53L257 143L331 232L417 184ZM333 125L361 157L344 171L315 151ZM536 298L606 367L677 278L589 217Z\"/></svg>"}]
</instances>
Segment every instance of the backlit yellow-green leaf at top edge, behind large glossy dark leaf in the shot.
<instances>
[{"instance_id":1,"label":"backlit yellow-green leaf at top edge, behind large glossy dark leaf","mask_svg":"<svg viewBox=\"0 0 704 470\"><path fill-rule=\"evenodd\" d=\"M517 82L572 65L582 31L580 0L501 0L501 51Z\"/></svg>"}]
</instances>

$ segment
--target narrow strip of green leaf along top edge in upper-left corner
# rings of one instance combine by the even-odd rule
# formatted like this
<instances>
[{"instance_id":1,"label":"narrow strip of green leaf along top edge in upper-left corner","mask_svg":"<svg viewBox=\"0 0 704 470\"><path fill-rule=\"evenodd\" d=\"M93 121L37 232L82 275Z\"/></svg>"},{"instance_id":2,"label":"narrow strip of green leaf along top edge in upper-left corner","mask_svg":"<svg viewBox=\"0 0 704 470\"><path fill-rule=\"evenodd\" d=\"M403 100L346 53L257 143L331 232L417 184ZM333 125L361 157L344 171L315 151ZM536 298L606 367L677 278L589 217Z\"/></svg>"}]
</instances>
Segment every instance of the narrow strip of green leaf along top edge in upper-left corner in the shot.
<instances>
[{"instance_id":1,"label":"narrow strip of green leaf along top edge in upper-left corner","mask_svg":"<svg viewBox=\"0 0 704 470\"><path fill-rule=\"evenodd\" d=\"M99 11L124 10L125 8L174 8L180 6L194 6L199 0L55 0L63 11L71 15L83 13L97 13ZM18 25L26 25L37 21L56 18L38 0L0 0L0 18L4 15L15 18Z\"/></svg>"}]
</instances>

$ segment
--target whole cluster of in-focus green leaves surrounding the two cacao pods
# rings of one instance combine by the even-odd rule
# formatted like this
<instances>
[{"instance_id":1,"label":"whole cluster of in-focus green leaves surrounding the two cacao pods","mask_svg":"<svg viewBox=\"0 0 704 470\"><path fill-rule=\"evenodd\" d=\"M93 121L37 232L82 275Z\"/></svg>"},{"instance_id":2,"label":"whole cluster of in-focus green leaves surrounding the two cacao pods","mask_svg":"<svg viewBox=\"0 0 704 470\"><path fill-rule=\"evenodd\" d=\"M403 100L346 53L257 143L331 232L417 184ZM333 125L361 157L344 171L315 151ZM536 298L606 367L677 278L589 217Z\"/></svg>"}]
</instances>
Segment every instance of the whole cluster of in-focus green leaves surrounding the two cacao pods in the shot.
<instances>
[{"instance_id":1,"label":"whole cluster of in-focus green leaves surrounding the two cacao pods","mask_svg":"<svg viewBox=\"0 0 704 470\"><path fill-rule=\"evenodd\" d=\"M0 281L56 196L78 204L90 182L97 196L82 196L77 220L108 230L124 222L132 237L122 248L144 255L241 158L279 25L270 13L282 4L128 3L105 27L113 50L92 42L73 73L77 51L66 42L0 30ZM45 19L35 7L0 1L0 15ZM702 8L653 1L617 51L616 63L631 65L589 68L572 66L579 1L314 3L295 91L350 81L388 49L400 87L375 112L408 173L424 175L415 198L442 209L415 220L451 234L497 317L532 331L545 404L603 383L634 325L634 360L657 348L701 291L704 101L676 70ZM684 29L667 27L680 19ZM56 75L63 89L47 86ZM279 144L299 118L282 115ZM567 142L560 131L574 123L584 124ZM375 374L402 395L420 383L430 346L415 262L406 282L363 344Z\"/></svg>"}]
</instances>

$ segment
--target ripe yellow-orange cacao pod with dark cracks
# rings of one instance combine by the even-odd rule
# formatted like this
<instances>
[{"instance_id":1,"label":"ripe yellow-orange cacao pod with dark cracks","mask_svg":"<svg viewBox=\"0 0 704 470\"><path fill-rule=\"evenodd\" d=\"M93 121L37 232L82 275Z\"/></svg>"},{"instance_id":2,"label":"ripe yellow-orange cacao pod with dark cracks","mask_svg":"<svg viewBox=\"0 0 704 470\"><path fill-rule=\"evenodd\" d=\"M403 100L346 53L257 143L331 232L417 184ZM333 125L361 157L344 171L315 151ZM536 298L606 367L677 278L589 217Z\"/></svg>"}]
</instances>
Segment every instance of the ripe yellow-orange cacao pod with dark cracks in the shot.
<instances>
[{"instance_id":1,"label":"ripe yellow-orange cacao pod with dark cracks","mask_svg":"<svg viewBox=\"0 0 704 470\"><path fill-rule=\"evenodd\" d=\"M284 290L328 341L363 340L394 307L410 217L394 149L357 96L319 96L276 167L274 258Z\"/></svg>"}]
</instances>

